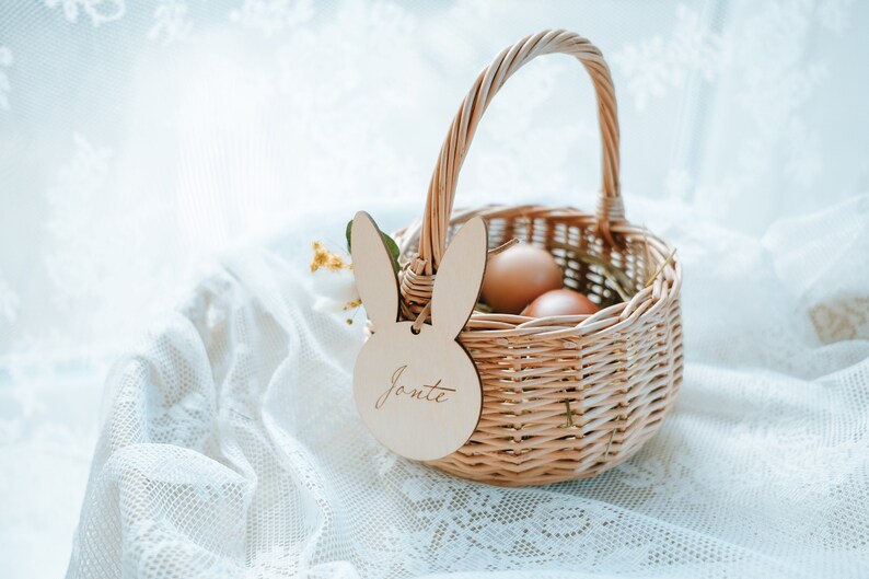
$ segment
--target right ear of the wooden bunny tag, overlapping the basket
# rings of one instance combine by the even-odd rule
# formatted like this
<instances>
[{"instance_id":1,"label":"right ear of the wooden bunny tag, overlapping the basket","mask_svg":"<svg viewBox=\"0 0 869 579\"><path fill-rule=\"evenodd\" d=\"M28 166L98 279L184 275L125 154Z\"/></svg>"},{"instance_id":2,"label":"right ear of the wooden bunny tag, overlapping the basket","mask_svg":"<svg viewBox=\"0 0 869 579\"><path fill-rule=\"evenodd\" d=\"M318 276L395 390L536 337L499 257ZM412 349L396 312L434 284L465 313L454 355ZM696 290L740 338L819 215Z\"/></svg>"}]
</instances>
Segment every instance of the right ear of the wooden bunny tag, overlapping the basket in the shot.
<instances>
[{"instance_id":1,"label":"right ear of the wooden bunny tag, overlapping the basket","mask_svg":"<svg viewBox=\"0 0 869 579\"><path fill-rule=\"evenodd\" d=\"M431 325L455 337L479 298L487 258L486 222L475 217L459 230L438 267L431 296Z\"/></svg>"}]
</instances>

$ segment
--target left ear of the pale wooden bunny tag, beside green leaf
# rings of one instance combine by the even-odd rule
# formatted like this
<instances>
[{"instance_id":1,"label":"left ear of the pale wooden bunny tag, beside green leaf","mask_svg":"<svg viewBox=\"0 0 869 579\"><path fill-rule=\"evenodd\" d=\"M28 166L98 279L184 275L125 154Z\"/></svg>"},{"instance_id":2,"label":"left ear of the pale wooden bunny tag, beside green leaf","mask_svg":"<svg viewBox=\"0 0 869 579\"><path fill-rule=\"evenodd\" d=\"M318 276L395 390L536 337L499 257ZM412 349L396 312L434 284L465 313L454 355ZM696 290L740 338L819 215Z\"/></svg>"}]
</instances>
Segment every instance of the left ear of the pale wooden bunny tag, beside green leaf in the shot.
<instances>
[{"instance_id":1,"label":"left ear of the pale wooden bunny tag, beside green leaf","mask_svg":"<svg viewBox=\"0 0 869 579\"><path fill-rule=\"evenodd\" d=\"M398 321L398 278L380 229L364 211L354 217L350 233L356 289L375 327Z\"/></svg>"}]
</instances>

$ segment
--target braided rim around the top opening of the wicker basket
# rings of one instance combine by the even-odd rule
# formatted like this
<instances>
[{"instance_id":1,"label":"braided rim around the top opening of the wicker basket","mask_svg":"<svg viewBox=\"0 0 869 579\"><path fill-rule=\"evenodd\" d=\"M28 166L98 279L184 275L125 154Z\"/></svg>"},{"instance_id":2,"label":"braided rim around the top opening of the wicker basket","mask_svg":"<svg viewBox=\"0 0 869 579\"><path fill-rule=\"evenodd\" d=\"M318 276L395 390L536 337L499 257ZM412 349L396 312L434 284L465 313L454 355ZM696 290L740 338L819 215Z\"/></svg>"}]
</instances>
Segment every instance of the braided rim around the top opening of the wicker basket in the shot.
<instances>
[{"instance_id":1,"label":"braided rim around the top opening of the wicker basket","mask_svg":"<svg viewBox=\"0 0 869 579\"><path fill-rule=\"evenodd\" d=\"M564 219L565 221L583 219L589 220L590 223L598 219L596 213L569 206L484 205L470 209L456 209L450 218L450 227L461 225L476 216L488 220L499 218L503 213L515 217L517 212L521 212L523 218L529 219ZM394 234L401 250L403 269L417 255L416 247L418 247L421 224L422 221L417 220L397 230ZM593 228L590 229L593 234L600 236L598 232L593 231ZM518 344L540 339L604 337L618 334L642 320L658 316L661 310L679 299L682 287L682 263L675 257L674 250L669 243L644 227L623 220L612 223L611 232L614 238L642 238L651 244L652 252L658 254L658 264L664 264L653 282L638 291L629 301L602 308L590 315L529 317L474 310L465 328L459 334L460 341L473 346L475 341L498 338ZM414 245L415 241L416 246ZM670 256L669 260L668 256Z\"/></svg>"}]
</instances>

